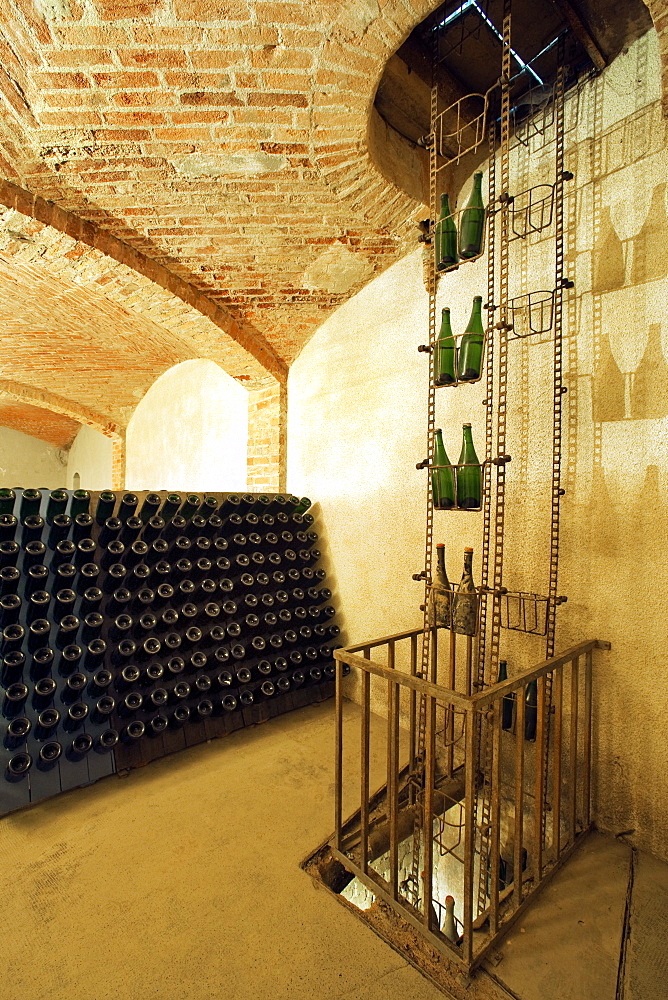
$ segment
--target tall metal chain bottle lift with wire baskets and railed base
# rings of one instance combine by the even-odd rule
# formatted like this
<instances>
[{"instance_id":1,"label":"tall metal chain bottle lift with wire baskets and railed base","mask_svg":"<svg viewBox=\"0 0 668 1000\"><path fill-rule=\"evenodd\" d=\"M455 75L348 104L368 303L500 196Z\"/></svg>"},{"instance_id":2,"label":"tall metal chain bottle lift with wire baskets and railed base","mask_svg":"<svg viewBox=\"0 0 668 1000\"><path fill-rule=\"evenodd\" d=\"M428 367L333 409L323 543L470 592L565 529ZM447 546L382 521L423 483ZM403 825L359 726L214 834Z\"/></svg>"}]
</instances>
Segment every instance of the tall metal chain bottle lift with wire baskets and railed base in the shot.
<instances>
[{"instance_id":1,"label":"tall metal chain bottle lift with wire baskets and railed base","mask_svg":"<svg viewBox=\"0 0 668 1000\"><path fill-rule=\"evenodd\" d=\"M481 11L481 17L486 16ZM564 198L572 179L564 165L565 44L555 39L554 84L518 118L513 104L517 77L512 47L512 0L503 0L499 28L499 77L485 94L439 106L438 74L456 41L438 15L427 22L432 39L429 152L432 250L427 268L429 357L428 458L421 629L338 650L336 701L336 814L329 843L332 856L387 904L414 931L459 968L469 972L530 903L546 878L564 862L591 828L592 663L597 640L555 655L559 594L564 294ZM522 72L526 72L526 67ZM531 88L529 88L530 91ZM542 88L545 91L547 88ZM522 90L527 101L527 88ZM480 534L479 586L474 635L430 620L435 519L445 531L449 511L435 511L431 486L437 393L437 292L448 273L468 261L438 269L436 222L446 168L487 145L487 311L483 384L485 453L481 461L481 509L464 511ZM511 160L539 149L550 158L552 176L534 187L511 182ZM479 157L478 157L479 159ZM516 171L517 173L517 171ZM454 215L458 213L453 212ZM553 286L518 293L511 275L511 244L536 233L552 241ZM477 259L477 257L475 259ZM462 272L464 274L465 272ZM526 284L526 282L525 282ZM541 591L508 586L506 498L512 444L509 422L509 365L531 344L551 350L550 458L544 470L549 502L543 511L548 538ZM512 386L511 386L512 388ZM466 386L458 392L466 393ZM450 601L456 600L451 588ZM502 637L544 643L544 659L499 681ZM527 649L534 646L527 645ZM373 659L372 659L373 651ZM361 652L362 655L359 655ZM359 672L359 808L344 820L350 794L344 752L343 666ZM378 706L382 706L379 709ZM371 712L386 715L387 780L372 793L369 767ZM404 730L401 722L405 721ZM450 891L450 890L453 891ZM446 891L447 890L447 891ZM454 894L456 892L456 900ZM454 910L455 903L458 912Z\"/></svg>"}]
</instances>

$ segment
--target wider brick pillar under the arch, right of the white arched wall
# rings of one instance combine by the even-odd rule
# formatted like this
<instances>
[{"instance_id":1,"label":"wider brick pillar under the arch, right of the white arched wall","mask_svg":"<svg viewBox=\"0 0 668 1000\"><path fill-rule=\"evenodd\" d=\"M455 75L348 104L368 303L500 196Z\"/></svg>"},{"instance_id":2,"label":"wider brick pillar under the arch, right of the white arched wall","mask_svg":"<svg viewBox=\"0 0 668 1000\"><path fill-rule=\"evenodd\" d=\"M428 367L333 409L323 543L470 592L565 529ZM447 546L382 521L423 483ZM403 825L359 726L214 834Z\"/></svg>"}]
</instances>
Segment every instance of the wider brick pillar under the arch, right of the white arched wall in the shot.
<instances>
[{"instance_id":1,"label":"wider brick pillar under the arch, right of the white arched wall","mask_svg":"<svg viewBox=\"0 0 668 1000\"><path fill-rule=\"evenodd\" d=\"M287 388L279 382L255 389L248 398L248 489L285 489Z\"/></svg>"}]
</instances>

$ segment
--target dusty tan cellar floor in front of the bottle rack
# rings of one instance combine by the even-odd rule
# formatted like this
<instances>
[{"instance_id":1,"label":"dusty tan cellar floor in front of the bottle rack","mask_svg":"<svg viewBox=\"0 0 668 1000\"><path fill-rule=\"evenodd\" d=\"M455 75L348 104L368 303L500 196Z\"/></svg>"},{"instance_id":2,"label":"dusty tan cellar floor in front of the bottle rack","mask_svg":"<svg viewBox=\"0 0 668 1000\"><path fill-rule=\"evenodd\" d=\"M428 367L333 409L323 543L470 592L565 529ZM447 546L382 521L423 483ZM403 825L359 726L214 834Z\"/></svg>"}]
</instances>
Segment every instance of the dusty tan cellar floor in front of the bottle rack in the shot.
<instances>
[{"instance_id":1,"label":"dusty tan cellar floor in front of the bottle rack","mask_svg":"<svg viewBox=\"0 0 668 1000\"><path fill-rule=\"evenodd\" d=\"M1 820L0 1000L439 1000L299 867L331 832L332 740L330 701ZM630 855L589 838L466 996L614 1000ZM634 875L623 996L665 1000L668 865Z\"/></svg>"}]
</instances>

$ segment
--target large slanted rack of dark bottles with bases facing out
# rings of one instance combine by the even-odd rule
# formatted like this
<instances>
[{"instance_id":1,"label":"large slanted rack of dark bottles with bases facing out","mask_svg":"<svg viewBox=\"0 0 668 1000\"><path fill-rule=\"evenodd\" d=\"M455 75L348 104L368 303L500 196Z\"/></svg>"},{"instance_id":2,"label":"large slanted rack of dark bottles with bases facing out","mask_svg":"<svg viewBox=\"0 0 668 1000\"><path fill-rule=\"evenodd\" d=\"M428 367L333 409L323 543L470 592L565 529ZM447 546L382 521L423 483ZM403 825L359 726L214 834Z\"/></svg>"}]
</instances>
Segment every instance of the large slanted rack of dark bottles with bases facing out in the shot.
<instances>
[{"instance_id":1,"label":"large slanted rack of dark bottles with bases facing out","mask_svg":"<svg viewBox=\"0 0 668 1000\"><path fill-rule=\"evenodd\" d=\"M0 490L0 813L330 697L309 507Z\"/></svg>"}]
</instances>

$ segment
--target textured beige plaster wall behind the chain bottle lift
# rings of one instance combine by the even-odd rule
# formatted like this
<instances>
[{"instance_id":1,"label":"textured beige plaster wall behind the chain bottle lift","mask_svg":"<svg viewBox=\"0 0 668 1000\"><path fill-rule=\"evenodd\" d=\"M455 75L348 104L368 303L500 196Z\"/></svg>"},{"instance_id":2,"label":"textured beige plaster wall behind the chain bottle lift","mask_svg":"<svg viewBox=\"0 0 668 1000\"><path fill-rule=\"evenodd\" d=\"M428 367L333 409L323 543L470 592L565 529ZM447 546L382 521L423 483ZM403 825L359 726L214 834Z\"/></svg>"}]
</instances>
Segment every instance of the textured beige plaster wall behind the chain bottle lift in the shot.
<instances>
[{"instance_id":1,"label":"textured beige plaster wall behind the chain bottle lift","mask_svg":"<svg viewBox=\"0 0 668 1000\"><path fill-rule=\"evenodd\" d=\"M565 397L557 649L592 637L613 649L595 663L596 818L636 831L668 856L668 218L667 138L650 32L570 97L565 299ZM511 187L553 177L554 147L534 140L512 157ZM466 195L466 188L465 188ZM553 286L548 233L513 244L511 295ZM463 329L484 260L441 282ZM420 252L390 268L320 327L293 365L289 489L320 501L347 637L418 624L423 559L427 295ZM505 583L546 592L551 479L552 347L509 349ZM481 386L441 390L437 426L456 461L461 423L483 450ZM436 514L451 578L480 515ZM543 656L543 640L503 633L510 670ZM354 691L354 686L352 687Z\"/></svg>"}]
</instances>

